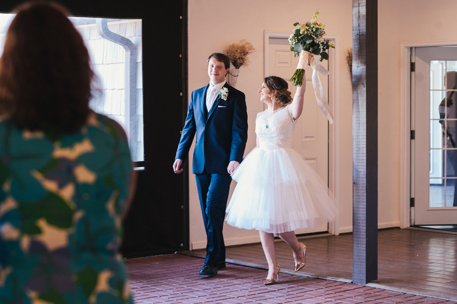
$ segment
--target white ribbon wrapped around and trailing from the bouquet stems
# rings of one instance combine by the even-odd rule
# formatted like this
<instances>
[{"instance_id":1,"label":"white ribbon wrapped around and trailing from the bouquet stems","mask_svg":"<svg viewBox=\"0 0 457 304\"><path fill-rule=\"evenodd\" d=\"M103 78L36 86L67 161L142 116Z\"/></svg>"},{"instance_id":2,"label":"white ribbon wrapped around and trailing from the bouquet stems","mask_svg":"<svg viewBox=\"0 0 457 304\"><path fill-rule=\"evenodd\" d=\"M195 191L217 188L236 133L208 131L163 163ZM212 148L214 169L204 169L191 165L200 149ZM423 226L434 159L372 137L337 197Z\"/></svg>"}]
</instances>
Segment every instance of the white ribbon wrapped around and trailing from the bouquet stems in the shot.
<instances>
[{"instance_id":1,"label":"white ribbon wrapped around and trailing from the bouquet stems","mask_svg":"<svg viewBox=\"0 0 457 304\"><path fill-rule=\"evenodd\" d=\"M327 117L330 124L333 123L333 115L330 112L329 102L327 101L327 97L325 97L322 83L320 82L319 73L323 76L329 75L331 72L327 71L325 67L320 64L320 55L314 55L311 58L311 62L309 63L311 69L313 69L313 76L311 78L314 88L314 95L316 96L316 102L319 106L322 113ZM297 65L297 69L306 70L306 66L308 65L308 52L302 51L300 53L300 60L299 64ZM319 96L318 96L319 95ZM319 98L320 97L320 98Z\"/></svg>"}]
</instances>

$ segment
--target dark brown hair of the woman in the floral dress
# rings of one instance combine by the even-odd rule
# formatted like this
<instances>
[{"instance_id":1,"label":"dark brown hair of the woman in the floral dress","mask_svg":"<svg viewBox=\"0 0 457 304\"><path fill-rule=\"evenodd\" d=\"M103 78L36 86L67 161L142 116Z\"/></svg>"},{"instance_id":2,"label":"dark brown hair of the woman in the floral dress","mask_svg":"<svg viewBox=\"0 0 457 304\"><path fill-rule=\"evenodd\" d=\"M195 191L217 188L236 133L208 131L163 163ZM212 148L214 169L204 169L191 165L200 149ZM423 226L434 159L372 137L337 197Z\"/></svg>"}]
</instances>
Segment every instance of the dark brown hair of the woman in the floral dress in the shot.
<instances>
[{"instance_id":1,"label":"dark brown hair of the woman in the floral dress","mask_svg":"<svg viewBox=\"0 0 457 304\"><path fill-rule=\"evenodd\" d=\"M14 12L0 58L0 116L20 129L78 131L94 77L81 35L55 3L28 2Z\"/></svg>"}]
</instances>

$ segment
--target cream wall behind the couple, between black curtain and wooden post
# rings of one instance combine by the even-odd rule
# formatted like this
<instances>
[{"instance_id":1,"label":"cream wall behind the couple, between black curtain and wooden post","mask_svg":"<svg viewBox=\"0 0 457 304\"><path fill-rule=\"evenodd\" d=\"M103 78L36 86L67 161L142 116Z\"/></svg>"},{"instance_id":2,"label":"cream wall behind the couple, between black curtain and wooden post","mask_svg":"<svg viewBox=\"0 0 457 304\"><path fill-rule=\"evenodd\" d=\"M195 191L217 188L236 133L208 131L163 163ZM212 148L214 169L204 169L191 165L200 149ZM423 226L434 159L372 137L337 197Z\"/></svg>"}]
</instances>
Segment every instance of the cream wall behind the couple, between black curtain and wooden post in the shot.
<instances>
[{"instance_id":1,"label":"cream wall behind the couple, between black curtain and wooden post","mask_svg":"<svg viewBox=\"0 0 457 304\"><path fill-rule=\"evenodd\" d=\"M188 2L188 84L189 91L206 85L206 59L213 52L222 52L227 45L247 39L256 51L249 55L250 64L241 67L237 89L246 94L248 110L247 154L255 146L254 121L263 110L257 89L264 77L264 30L292 31L293 23L311 20L319 11L319 22L327 33L336 34L339 44L339 121L338 147L340 167L335 194L340 200L340 232L351 231L352 226L352 89L346 65L346 51L352 46L352 5L350 0L325 2L296 0L189 0ZM191 149L191 153L193 148ZM189 160L191 161L191 153ZM191 165L191 163L190 163ZM206 233L203 226L195 178L190 174L190 243L191 249L205 248ZM232 189L235 182L232 184ZM258 242L258 232L224 226L226 245Z\"/></svg>"}]
</instances>

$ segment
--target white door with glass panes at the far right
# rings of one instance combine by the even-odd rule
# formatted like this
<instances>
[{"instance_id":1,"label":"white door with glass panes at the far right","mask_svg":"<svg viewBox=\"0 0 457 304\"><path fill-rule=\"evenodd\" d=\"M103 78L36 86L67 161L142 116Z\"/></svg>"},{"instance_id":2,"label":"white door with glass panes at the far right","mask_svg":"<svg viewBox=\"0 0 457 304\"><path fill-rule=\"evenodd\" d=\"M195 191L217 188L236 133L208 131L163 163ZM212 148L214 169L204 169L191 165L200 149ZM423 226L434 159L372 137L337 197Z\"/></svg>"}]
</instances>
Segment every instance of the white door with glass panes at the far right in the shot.
<instances>
[{"instance_id":1,"label":"white door with glass panes at the far right","mask_svg":"<svg viewBox=\"0 0 457 304\"><path fill-rule=\"evenodd\" d=\"M415 48L414 225L457 224L457 47Z\"/></svg>"}]
</instances>

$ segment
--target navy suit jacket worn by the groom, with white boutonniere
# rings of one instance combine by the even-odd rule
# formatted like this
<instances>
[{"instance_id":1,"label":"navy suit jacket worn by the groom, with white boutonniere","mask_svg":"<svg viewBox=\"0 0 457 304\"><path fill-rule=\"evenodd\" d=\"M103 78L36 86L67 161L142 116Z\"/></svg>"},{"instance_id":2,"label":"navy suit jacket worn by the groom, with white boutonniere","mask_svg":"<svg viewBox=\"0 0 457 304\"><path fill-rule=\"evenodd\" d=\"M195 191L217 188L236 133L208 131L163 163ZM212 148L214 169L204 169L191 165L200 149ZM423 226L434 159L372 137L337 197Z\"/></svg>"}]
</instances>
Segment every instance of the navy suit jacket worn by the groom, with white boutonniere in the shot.
<instances>
[{"instance_id":1,"label":"navy suit jacket worn by the groom, with white boutonniere","mask_svg":"<svg viewBox=\"0 0 457 304\"><path fill-rule=\"evenodd\" d=\"M175 159L185 160L194 136L192 173L228 174L230 161L241 162L247 141L247 111L243 92L225 83L227 100L216 97L210 112L206 108L209 84L190 95L189 108Z\"/></svg>"}]
</instances>

